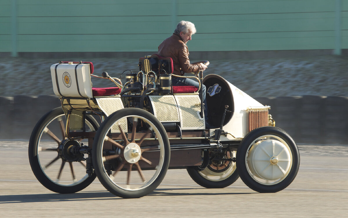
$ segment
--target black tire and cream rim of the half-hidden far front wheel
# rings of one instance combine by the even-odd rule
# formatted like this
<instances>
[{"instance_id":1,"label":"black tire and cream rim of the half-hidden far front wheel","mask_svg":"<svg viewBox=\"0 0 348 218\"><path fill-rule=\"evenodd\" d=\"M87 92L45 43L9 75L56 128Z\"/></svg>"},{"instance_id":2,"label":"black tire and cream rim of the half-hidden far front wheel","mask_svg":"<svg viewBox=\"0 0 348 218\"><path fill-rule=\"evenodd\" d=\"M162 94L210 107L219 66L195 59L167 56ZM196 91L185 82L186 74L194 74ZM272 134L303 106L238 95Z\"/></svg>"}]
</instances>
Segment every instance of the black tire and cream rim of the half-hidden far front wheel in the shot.
<instances>
[{"instance_id":1,"label":"black tire and cream rim of the half-hidden far front wheel","mask_svg":"<svg viewBox=\"0 0 348 218\"><path fill-rule=\"evenodd\" d=\"M225 188L230 186L239 178L236 164L233 162L231 162L226 169L220 172L214 172L209 167L206 167L203 171L197 171L195 167L187 167L187 172L193 181L205 188ZM226 173L228 174L226 175ZM214 179L214 175L216 176L216 179ZM221 176L227 177L221 179Z\"/></svg>"}]
</instances>

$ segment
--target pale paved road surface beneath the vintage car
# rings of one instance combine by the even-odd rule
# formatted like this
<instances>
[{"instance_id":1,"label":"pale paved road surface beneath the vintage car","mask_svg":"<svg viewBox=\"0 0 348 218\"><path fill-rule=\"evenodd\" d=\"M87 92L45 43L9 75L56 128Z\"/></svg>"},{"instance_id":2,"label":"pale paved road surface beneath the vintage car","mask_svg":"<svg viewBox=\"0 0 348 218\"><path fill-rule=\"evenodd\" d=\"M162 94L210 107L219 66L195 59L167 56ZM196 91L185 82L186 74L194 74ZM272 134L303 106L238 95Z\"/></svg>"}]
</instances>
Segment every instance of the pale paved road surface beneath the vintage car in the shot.
<instances>
[{"instance_id":1,"label":"pale paved road surface beneath the vintage car","mask_svg":"<svg viewBox=\"0 0 348 218\"><path fill-rule=\"evenodd\" d=\"M293 183L271 194L238 179L206 189L185 170L169 170L148 196L122 199L95 180L75 194L56 194L34 177L27 142L0 141L0 216L6 217L348 217L348 146L300 145Z\"/></svg>"}]
</instances>

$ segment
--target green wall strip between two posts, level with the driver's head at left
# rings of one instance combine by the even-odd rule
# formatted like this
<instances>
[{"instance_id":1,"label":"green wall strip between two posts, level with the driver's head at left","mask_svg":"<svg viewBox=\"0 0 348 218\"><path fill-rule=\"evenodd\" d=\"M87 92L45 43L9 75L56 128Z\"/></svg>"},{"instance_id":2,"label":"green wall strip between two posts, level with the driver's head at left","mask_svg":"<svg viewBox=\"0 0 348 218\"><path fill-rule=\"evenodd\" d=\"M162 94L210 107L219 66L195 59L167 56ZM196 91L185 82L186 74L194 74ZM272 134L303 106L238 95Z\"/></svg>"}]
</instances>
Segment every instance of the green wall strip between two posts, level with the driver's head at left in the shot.
<instances>
[{"instance_id":1,"label":"green wall strip between two posts, level with the driver's head at left","mask_svg":"<svg viewBox=\"0 0 348 218\"><path fill-rule=\"evenodd\" d=\"M18 18L18 34L150 34L172 32L171 21L161 16L160 21L146 17L62 17Z\"/></svg>"}]
</instances>

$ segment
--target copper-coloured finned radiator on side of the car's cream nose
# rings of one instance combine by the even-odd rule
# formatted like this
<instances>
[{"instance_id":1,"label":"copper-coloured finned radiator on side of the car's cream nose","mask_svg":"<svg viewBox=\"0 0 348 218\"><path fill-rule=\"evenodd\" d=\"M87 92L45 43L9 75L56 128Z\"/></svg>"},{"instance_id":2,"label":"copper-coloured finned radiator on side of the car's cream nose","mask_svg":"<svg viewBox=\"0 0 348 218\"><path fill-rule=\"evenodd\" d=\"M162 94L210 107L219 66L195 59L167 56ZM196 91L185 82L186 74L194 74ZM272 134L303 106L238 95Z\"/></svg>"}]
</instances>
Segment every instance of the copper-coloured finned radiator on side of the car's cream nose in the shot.
<instances>
[{"instance_id":1,"label":"copper-coloured finned radiator on side of the car's cream nose","mask_svg":"<svg viewBox=\"0 0 348 218\"><path fill-rule=\"evenodd\" d=\"M268 110L270 106L265 107L248 107L248 132L253 129L268 126Z\"/></svg>"}]
</instances>

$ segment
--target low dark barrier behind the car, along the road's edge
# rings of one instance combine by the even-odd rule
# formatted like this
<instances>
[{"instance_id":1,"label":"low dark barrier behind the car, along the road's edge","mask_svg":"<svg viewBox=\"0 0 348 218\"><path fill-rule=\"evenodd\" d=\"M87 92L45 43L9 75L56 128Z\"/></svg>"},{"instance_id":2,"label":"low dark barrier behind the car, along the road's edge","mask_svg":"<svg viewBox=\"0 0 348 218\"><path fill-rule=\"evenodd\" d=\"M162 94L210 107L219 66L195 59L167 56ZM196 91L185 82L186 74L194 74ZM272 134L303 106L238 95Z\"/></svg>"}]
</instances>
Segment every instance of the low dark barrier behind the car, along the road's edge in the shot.
<instances>
[{"instance_id":1,"label":"low dark barrier behind the car, along the road's edge","mask_svg":"<svg viewBox=\"0 0 348 218\"><path fill-rule=\"evenodd\" d=\"M297 143L347 144L348 97L302 96L257 97L270 105L276 126ZM35 124L48 111L60 106L56 96L0 97L0 139L28 140Z\"/></svg>"}]
</instances>

